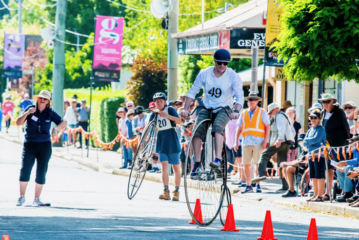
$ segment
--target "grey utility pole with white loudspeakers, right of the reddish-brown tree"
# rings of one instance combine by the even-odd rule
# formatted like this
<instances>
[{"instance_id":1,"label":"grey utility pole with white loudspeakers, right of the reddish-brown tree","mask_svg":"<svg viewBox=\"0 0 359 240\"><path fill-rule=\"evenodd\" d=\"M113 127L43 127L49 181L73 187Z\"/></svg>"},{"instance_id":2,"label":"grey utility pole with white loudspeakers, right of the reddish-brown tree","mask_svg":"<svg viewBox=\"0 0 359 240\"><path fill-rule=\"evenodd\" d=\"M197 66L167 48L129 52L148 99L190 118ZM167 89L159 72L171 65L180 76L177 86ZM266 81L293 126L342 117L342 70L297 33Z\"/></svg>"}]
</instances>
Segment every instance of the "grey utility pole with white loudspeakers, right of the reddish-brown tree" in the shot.
<instances>
[{"instance_id":1,"label":"grey utility pole with white loudspeakers, right of the reddish-brown tree","mask_svg":"<svg viewBox=\"0 0 359 240\"><path fill-rule=\"evenodd\" d=\"M172 33L178 32L179 0L173 0L168 12L168 54L167 54L167 95L168 100L177 99L177 40L171 38Z\"/></svg>"}]
</instances>

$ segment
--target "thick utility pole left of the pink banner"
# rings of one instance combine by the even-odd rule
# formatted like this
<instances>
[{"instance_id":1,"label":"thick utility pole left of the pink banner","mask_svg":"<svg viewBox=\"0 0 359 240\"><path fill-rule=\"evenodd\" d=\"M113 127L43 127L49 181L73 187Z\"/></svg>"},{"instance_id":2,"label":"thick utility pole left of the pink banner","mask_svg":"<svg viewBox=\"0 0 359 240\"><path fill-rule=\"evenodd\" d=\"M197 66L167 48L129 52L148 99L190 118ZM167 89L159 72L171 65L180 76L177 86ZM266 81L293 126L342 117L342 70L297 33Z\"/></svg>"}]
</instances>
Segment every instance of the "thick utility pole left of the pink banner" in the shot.
<instances>
[{"instance_id":1,"label":"thick utility pole left of the pink banner","mask_svg":"<svg viewBox=\"0 0 359 240\"><path fill-rule=\"evenodd\" d=\"M55 16L55 46L52 69L52 101L53 109L62 115L64 112L64 78L65 78L65 21L66 21L66 0L57 0ZM62 137L53 146L62 146Z\"/></svg>"}]
</instances>

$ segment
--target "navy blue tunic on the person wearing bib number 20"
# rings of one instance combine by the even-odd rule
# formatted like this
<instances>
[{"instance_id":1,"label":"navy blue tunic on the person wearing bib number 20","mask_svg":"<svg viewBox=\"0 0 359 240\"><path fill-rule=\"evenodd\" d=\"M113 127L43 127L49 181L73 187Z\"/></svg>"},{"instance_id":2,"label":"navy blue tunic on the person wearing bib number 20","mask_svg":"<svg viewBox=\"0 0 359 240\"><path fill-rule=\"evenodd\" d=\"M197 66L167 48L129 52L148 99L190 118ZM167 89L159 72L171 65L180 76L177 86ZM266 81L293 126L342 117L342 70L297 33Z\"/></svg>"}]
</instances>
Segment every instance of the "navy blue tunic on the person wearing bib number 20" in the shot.
<instances>
[{"instance_id":1,"label":"navy blue tunic on the person wearing bib number 20","mask_svg":"<svg viewBox=\"0 0 359 240\"><path fill-rule=\"evenodd\" d=\"M176 109L173 107L168 107L168 114L173 117L179 117ZM152 113L149 121L152 121L156 116L155 113ZM156 141L156 153L181 153L181 146L179 145L179 140L176 131L176 123L171 121L171 128L163 131L157 132L157 141Z\"/></svg>"}]
</instances>

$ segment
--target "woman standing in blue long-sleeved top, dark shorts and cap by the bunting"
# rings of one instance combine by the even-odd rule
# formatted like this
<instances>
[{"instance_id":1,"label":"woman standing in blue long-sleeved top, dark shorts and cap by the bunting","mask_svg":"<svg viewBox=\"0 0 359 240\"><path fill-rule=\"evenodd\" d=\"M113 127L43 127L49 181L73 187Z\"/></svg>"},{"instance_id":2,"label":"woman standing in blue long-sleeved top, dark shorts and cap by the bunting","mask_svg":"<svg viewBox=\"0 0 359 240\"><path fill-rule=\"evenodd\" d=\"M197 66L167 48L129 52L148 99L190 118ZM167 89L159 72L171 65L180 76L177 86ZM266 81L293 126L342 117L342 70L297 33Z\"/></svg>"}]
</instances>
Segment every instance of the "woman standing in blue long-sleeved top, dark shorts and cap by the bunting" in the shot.
<instances>
[{"instance_id":1,"label":"woman standing in blue long-sleeved top, dark shorts and cap by the bunting","mask_svg":"<svg viewBox=\"0 0 359 240\"><path fill-rule=\"evenodd\" d=\"M303 139L303 145L307 147L310 157L309 163L309 178L313 180L314 196L307 201L323 201L322 197L325 190L325 158L322 154L320 160L318 160L319 148L325 145L326 135L325 128L320 124L321 112L318 109L314 109L309 115L309 119L313 126L309 129L307 135ZM314 151L314 161L312 159L311 152Z\"/></svg>"}]
</instances>

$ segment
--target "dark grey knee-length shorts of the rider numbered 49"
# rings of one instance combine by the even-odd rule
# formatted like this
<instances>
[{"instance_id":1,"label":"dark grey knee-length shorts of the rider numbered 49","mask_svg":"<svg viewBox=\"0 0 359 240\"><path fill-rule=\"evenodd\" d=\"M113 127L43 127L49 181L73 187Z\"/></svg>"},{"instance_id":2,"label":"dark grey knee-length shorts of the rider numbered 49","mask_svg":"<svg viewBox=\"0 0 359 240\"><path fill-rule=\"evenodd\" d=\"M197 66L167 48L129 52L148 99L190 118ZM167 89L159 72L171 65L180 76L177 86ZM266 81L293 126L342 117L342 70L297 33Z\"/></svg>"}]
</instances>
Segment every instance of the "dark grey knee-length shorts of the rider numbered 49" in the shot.
<instances>
[{"instance_id":1,"label":"dark grey knee-length shorts of the rider numbered 49","mask_svg":"<svg viewBox=\"0 0 359 240\"><path fill-rule=\"evenodd\" d=\"M212 135L214 133L220 133L220 134L224 133L225 127L226 127L227 123L229 122L229 120L231 119L230 117L228 117L228 115L231 116L231 113L232 113L232 109L229 106L226 106L225 109L221 109L217 113L212 113L212 119L214 119L212 131L211 131ZM226 114L226 112L228 115ZM197 119L194 123L193 129L197 126L198 123L202 122L205 119L208 119L209 114L210 113L208 110L202 109L201 112L197 116ZM200 126L200 128L198 128L198 130L196 131L194 136L195 137L205 137L208 127L209 127L209 124L202 124Z\"/></svg>"}]
</instances>

